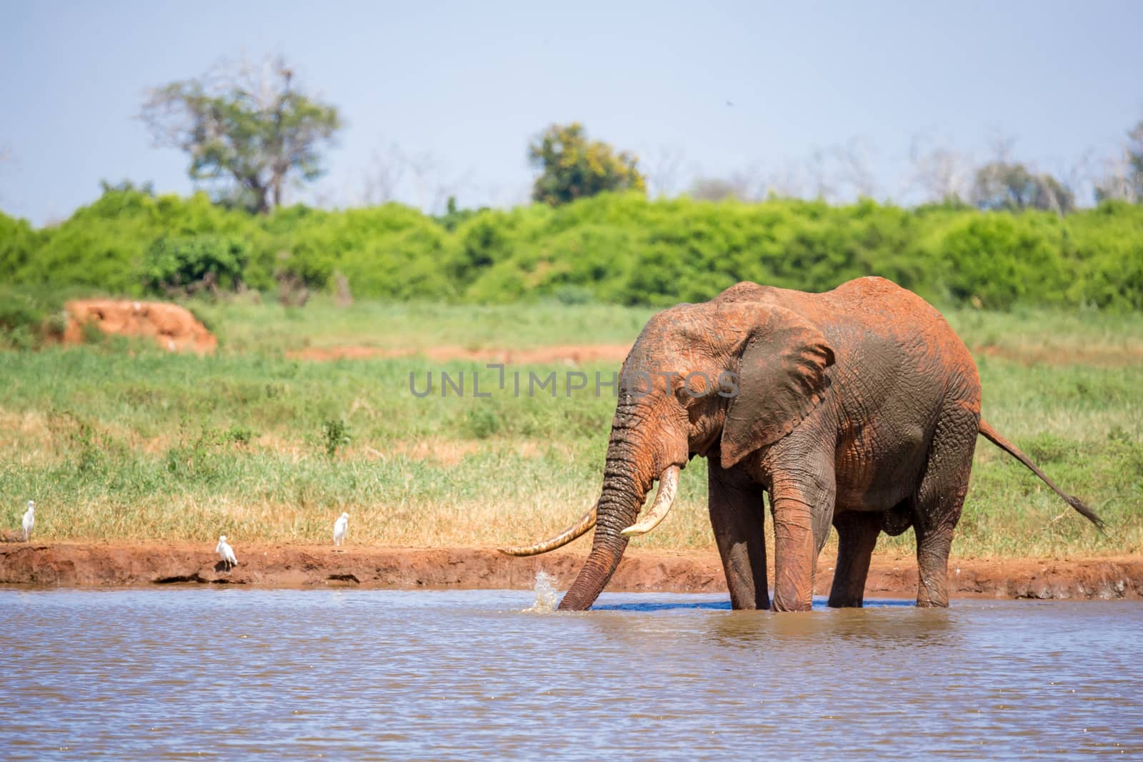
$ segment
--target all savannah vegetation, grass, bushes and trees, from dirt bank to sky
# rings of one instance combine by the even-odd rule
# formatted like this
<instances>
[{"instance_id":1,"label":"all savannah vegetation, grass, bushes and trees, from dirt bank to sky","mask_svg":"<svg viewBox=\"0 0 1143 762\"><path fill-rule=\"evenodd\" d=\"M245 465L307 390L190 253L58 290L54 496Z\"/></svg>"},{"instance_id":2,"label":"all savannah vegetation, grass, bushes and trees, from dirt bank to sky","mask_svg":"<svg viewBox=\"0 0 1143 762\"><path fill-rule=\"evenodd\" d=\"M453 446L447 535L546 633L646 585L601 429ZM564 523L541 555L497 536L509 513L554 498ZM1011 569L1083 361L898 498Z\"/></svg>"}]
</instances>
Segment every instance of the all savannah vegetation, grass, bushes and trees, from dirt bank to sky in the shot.
<instances>
[{"instance_id":1,"label":"all savannah vegetation, grass, bushes and trees, from dirt bank to sky","mask_svg":"<svg viewBox=\"0 0 1143 762\"><path fill-rule=\"evenodd\" d=\"M1007 155L964 182L940 151L914 162L925 200L911 207L740 176L672 195L570 123L527 146L531 204L449 199L429 214L287 202L321 176L342 115L283 62L159 86L139 117L186 154L199 192L104 183L42 228L0 211L0 527L35 499L43 539L327 542L349 511L353 543L530 542L597 496L614 399L418 399L410 372L432 370L439 390L441 370L471 378L483 363L288 353L623 344L656 308L741 280L817 291L879 274L945 311L976 354L989 420L1111 524L1098 534L981 442L954 554L1141 547L1143 125L1094 183L1095 206ZM64 300L104 295L179 300L219 351L170 355L97 330L58 346ZM712 547L704 468L685 470L676 510L636 545Z\"/></svg>"}]
</instances>

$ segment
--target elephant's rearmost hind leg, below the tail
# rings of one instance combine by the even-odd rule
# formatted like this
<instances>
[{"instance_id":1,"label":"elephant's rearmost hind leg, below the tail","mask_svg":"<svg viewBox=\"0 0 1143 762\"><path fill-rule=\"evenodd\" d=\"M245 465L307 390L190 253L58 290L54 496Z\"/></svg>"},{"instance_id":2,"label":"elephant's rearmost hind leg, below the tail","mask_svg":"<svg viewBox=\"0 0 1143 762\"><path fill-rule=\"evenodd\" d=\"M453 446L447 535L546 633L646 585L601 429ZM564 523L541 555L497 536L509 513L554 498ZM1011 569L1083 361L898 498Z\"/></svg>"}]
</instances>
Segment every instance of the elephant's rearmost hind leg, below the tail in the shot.
<instances>
[{"instance_id":1,"label":"elephant's rearmost hind leg, below the tail","mask_svg":"<svg viewBox=\"0 0 1143 762\"><path fill-rule=\"evenodd\" d=\"M968 491L980 415L956 403L937 419L917 492L917 605L949 605L949 552Z\"/></svg>"}]
</instances>

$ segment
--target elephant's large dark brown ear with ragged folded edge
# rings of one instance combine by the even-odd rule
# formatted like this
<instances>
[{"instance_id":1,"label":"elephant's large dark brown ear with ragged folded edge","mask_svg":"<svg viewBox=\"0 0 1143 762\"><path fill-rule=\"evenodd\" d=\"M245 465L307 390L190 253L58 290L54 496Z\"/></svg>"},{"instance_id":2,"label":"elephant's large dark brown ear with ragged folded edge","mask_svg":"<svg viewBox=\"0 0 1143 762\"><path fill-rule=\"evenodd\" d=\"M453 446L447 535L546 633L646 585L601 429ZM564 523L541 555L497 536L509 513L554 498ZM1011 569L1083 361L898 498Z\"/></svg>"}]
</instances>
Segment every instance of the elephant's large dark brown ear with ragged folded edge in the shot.
<instances>
[{"instance_id":1,"label":"elephant's large dark brown ear with ragged folded edge","mask_svg":"<svg viewBox=\"0 0 1143 762\"><path fill-rule=\"evenodd\" d=\"M759 320L738 362L738 394L722 426L722 466L793 431L825 394L833 350L807 320L759 305Z\"/></svg>"}]
</instances>

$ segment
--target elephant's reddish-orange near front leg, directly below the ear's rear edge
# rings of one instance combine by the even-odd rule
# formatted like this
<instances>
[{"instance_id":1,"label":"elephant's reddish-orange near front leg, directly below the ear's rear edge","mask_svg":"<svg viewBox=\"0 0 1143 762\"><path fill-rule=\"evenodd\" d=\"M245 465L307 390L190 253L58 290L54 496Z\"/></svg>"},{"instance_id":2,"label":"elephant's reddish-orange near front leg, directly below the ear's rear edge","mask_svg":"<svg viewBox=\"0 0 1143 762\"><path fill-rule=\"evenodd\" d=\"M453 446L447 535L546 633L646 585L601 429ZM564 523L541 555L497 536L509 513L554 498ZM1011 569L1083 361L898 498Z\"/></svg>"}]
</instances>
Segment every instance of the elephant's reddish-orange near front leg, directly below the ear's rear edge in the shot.
<instances>
[{"instance_id":1,"label":"elephant's reddish-orange near front leg, directly below the ear's rear edge","mask_svg":"<svg viewBox=\"0 0 1143 762\"><path fill-rule=\"evenodd\" d=\"M797 468L774 474L775 611L808 611L814 599L814 567L830 532L837 484L833 462L805 458Z\"/></svg>"}]
</instances>

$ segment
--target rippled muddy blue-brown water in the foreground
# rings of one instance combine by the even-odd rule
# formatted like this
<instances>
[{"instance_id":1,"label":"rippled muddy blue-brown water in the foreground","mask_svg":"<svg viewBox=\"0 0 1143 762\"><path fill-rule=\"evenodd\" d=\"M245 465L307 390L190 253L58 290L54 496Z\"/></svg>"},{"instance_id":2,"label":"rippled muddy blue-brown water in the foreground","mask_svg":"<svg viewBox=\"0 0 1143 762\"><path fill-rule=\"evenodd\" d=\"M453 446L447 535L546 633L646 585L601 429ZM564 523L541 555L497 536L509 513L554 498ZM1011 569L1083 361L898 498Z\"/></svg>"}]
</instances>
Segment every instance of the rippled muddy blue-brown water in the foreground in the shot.
<instances>
[{"instance_id":1,"label":"rippled muddy blue-brown water in the foreground","mask_svg":"<svg viewBox=\"0 0 1143 762\"><path fill-rule=\"evenodd\" d=\"M1143 604L0 589L5 759L1143 756Z\"/></svg>"}]
</instances>

